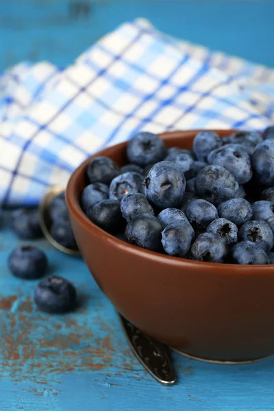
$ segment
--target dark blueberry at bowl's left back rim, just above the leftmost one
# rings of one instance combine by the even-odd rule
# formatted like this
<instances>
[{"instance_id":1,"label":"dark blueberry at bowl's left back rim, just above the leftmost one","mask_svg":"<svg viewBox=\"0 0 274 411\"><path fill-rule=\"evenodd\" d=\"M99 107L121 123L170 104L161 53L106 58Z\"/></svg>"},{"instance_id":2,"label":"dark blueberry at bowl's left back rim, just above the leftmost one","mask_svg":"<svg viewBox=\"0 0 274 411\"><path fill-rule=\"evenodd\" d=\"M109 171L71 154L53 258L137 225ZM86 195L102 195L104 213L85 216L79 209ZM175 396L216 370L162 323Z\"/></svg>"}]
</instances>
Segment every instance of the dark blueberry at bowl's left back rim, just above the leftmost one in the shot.
<instances>
[{"instance_id":1,"label":"dark blueberry at bowl's left back rim, just above the leftmost one","mask_svg":"<svg viewBox=\"0 0 274 411\"><path fill-rule=\"evenodd\" d=\"M86 174L90 183L110 184L119 175L119 168L108 157L97 157L90 161Z\"/></svg>"}]
</instances>

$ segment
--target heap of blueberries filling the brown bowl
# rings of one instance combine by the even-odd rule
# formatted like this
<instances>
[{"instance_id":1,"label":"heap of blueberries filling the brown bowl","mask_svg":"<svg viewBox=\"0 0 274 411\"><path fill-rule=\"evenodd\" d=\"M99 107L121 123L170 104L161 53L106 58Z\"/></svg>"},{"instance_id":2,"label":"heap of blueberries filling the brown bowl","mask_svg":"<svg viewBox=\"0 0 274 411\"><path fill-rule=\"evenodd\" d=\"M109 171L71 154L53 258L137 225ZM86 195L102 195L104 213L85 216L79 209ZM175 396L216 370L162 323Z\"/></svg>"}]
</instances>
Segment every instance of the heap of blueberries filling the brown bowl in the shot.
<instances>
[{"instance_id":1,"label":"heap of blueberries filling the brown bowl","mask_svg":"<svg viewBox=\"0 0 274 411\"><path fill-rule=\"evenodd\" d=\"M274 127L192 149L149 132L127 145L130 164L90 161L82 209L99 227L145 249L205 262L274 264Z\"/></svg>"}]
</instances>

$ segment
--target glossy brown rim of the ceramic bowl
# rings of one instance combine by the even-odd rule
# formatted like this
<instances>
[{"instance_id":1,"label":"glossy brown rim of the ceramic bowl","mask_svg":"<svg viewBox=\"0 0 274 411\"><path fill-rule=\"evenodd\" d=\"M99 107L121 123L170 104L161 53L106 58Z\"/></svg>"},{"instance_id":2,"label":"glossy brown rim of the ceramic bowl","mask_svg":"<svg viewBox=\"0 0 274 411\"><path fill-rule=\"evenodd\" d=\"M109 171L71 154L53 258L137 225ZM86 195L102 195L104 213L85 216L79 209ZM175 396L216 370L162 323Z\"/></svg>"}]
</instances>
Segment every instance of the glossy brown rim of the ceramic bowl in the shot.
<instances>
[{"instance_id":1,"label":"glossy brown rim of the ceramic bowl","mask_svg":"<svg viewBox=\"0 0 274 411\"><path fill-rule=\"evenodd\" d=\"M158 136L163 138L165 141L169 140L169 138L178 138L182 136L186 137L192 137L193 134L197 134L198 132L205 131L204 129L191 129L191 130L184 130L184 131L174 131L174 132L165 132L165 133L159 133ZM216 132L217 134L221 134L223 136L227 134L232 134L233 132L236 132L238 130L235 129L210 129L206 131L212 131ZM143 257L143 258L149 258L151 260L158 260L160 262L163 262L164 264L172 264L175 266L179 266L182 269L188 268L190 269L197 269L203 271L214 271L218 270L220 274L222 275L238 275L239 273L241 275L258 275L258 271L260 270L260 275L274 275L274 264L254 264L254 265L245 265L245 264L227 264L227 263L218 263L218 262L203 262L203 261L197 261L197 260L188 260L186 258L182 257L174 257L174 256L168 256L165 254L158 253L156 251L151 251L147 249L143 249L142 247L137 247L136 245L131 245L129 242L125 242L123 240L119 240L119 238L116 238L112 236L112 234L109 234L108 232L105 232L103 229L92 223L90 219L84 214L84 211L82 210L78 195L79 191L76 190L76 183L77 181L82 177L84 174L84 171L86 169L86 166L88 166L88 163L90 160L93 158L99 157L101 155L108 156L108 153L116 147L116 149L124 149L127 145L127 141L121 142L117 145L112 145L110 147L106 147L103 150L98 151L95 154L90 155L82 164L80 164L77 169L73 172L69 179L69 183L66 186L66 203L69 207L69 210L71 213L73 213L73 216L75 219L77 219L78 223L81 224L83 227L88 229L89 232L92 232L96 236L100 236L104 240L111 242L114 247L117 247L117 249L123 249L126 250L128 253L132 253L134 255ZM247 269L248 267L248 269ZM222 270L223 269L223 270Z\"/></svg>"}]
</instances>

